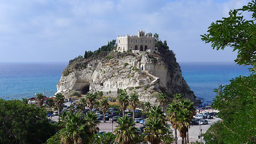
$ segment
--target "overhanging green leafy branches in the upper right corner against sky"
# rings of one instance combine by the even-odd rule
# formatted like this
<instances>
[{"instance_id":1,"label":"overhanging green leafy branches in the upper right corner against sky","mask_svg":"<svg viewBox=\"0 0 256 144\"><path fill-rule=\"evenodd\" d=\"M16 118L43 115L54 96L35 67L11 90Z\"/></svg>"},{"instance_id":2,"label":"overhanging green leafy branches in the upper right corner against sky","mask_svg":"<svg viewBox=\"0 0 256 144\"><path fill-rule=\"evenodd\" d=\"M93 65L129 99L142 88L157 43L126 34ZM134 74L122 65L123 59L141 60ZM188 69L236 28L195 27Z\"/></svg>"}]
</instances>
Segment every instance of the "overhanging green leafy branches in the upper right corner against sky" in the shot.
<instances>
[{"instance_id":1,"label":"overhanging green leafy branches in the upper right corner against sky","mask_svg":"<svg viewBox=\"0 0 256 144\"><path fill-rule=\"evenodd\" d=\"M229 17L223 17L222 20L213 22L207 32L201 35L201 39L206 43L212 43L213 49L225 49L232 47L237 50L237 59L239 65L252 65L256 68L256 6L255 1L236 10L230 10ZM246 20L243 16L248 12L251 19Z\"/></svg>"}]
</instances>

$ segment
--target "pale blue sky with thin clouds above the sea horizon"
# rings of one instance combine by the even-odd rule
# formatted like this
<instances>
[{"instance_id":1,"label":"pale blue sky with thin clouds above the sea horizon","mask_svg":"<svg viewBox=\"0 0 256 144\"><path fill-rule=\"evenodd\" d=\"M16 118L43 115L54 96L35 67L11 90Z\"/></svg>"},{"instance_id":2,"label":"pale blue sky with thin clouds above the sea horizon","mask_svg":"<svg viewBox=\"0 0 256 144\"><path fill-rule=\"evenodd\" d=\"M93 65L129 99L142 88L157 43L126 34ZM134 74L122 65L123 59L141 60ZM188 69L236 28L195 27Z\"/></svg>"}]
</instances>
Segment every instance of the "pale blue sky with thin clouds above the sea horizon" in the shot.
<instances>
[{"instance_id":1,"label":"pale blue sky with thin clouds above the sea horizon","mask_svg":"<svg viewBox=\"0 0 256 144\"><path fill-rule=\"evenodd\" d=\"M0 62L68 62L138 30L159 34L177 62L232 62L201 41L248 0L0 0Z\"/></svg>"}]
</instances>

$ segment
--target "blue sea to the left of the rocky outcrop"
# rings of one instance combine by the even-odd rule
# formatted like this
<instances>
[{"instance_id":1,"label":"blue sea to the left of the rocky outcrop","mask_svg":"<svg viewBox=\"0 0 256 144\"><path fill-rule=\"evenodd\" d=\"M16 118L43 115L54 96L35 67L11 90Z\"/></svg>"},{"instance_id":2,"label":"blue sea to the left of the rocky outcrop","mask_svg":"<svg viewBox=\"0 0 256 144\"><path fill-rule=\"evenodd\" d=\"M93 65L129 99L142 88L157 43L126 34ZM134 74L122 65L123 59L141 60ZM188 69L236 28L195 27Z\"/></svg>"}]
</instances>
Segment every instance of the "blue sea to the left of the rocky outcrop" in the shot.
<instances>
[{"instance_id":1,"label":"blue sea to the left of the rocky outcrop","mask_svg":"<svg viewBox=\"0 0 256 144\"><path fill-rule=\"evenodd\" d=\"M67 63L0 63L0 98L31 98L43 88L52 97L66 67Z\"/></svg>"}]
</instances>

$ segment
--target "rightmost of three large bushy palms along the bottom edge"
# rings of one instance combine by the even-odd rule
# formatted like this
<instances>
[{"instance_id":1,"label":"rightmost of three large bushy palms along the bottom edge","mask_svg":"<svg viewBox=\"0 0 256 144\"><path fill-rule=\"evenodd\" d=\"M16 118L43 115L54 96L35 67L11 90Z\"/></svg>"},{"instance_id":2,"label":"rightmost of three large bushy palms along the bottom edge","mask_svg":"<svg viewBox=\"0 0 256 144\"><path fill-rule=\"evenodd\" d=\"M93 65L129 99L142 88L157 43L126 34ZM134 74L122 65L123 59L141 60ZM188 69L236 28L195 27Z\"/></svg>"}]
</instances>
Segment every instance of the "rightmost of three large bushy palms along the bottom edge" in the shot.
<instances>
[{"instance_id":1,"label":"rightmost of three large bushy palms along the bottom edge","mask_svg":"<svg viewBox=\"0 0 256 144\"><path fill-rule=\"evenodd\" d=\"M146 128L144 129L146 136L144 137L147 142L151 144L159 144L162 137L167 133L168 128L162 124L157 117L148 119Z\"/></svg>"}]
</instances>

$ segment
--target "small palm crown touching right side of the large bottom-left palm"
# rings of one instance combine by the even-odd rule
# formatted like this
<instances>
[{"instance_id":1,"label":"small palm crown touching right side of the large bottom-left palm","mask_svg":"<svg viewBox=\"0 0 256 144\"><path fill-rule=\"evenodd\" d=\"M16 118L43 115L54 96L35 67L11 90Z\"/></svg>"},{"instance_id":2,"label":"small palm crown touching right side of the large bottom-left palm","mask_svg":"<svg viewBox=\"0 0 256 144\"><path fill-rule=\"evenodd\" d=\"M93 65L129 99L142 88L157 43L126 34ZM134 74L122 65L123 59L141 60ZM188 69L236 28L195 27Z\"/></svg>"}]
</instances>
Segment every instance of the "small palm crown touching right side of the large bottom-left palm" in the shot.
<instances>
[{"instance_id":1,"label":"small palm crown touching right side of the large bottom-left palm","mask_svg":"<svg viewBox=\"0 0 256 144\"><path fill-rule=\"evenodd\" d=\"M96 114L88 112L84 119L87 121L90 132L96 134L99 131L98 125L100 123L100 121L97 120Z\"/></svg>"}]
</instances>

